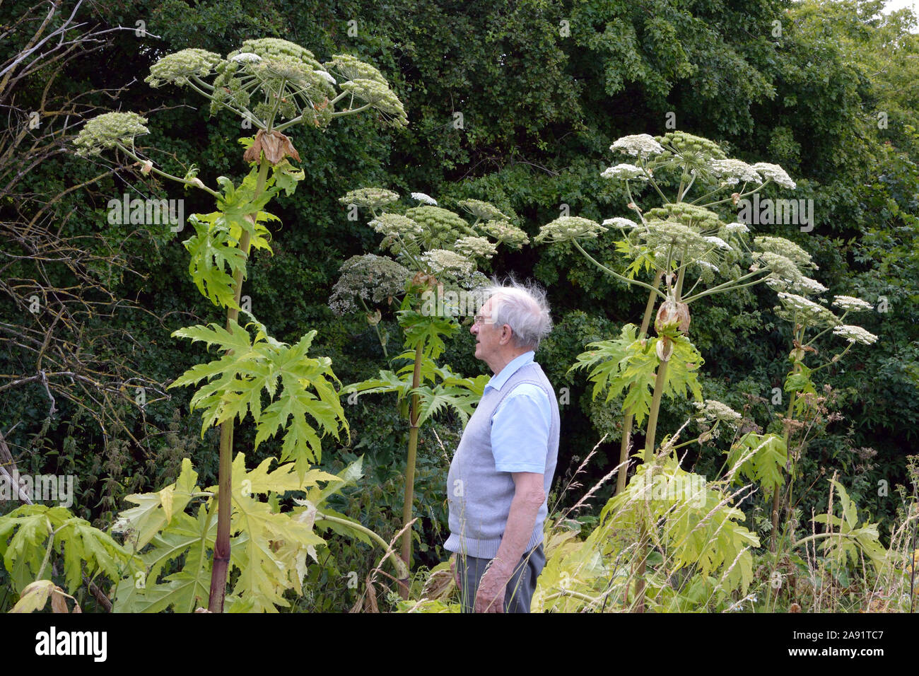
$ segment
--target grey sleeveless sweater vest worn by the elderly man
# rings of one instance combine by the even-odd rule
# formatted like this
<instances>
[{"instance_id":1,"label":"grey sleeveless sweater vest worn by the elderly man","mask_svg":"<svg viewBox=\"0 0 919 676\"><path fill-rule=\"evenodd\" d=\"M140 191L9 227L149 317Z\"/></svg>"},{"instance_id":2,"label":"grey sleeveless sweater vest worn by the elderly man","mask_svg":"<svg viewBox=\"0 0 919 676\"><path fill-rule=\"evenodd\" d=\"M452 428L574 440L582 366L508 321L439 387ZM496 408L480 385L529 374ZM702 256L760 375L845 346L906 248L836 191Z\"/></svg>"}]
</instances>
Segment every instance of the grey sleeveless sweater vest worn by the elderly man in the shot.
<instances>
[{"instance_id":1,"label":"grey sleeveless sweater vest worn by the elderly man","mask_svg":"<svg viewBox=\"0 0 919 676\"><path fill-rule=\"evenodd\" d=\"M543 490L549 498L552 475L559 453L559 403L546 374L535 361L521 366L500 390L486 392L463 431L459 448L447 476L450 536L444 548L478 558L494 558L505 533L507 516L514 499L514 477L494 468L492 416L505 397L519 384L541 387L549 396L552 419L543 473ZM526 551L542 542L542 524L549 512L543 501Z\"/></svg>"}]
</instances>

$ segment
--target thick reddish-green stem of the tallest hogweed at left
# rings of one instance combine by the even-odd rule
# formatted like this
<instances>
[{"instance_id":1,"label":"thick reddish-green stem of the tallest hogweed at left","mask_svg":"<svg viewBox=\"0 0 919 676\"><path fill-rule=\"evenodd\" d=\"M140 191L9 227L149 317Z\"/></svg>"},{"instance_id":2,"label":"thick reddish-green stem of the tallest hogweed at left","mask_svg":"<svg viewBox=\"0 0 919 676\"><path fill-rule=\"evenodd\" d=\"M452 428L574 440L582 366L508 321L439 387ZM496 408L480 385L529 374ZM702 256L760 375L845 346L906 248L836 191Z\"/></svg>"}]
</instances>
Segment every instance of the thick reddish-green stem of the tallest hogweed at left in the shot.
<instances>
[{"instance_id":1,"label":"thick reddish-green stem of the tallest hogweed at left","mask_svg":"<svg viewBox=\"0 0 919 676\"><path fill-rule=\"evenodd\" d=\"M265 182L268 177L268 163L265 155L261 157L261 165L258 167L258 178L255 183L256 199L265 189ZM255 224L257 214L251 214L246 218ZM248 230L243 231L240 237L239 247L243 250L246 258L249 257L249 248L251 244L251 235ZM243 269L237 269L233 276L233 297L236 306L239 307L240 299L243 296ZM230 322L235 322L239 318L239 310L234 307L227 308L227 330L230 330ZM232 501L233 492L233 418L225 420L221 425L221 454L220 469L217 490L217 539L214 542L214 563L210 570L210 599L208 601L208 610L211 613L223 612L223 598L226 596L227 575L230 568L230 512L233 510Z\"/></svg>"}]
</instances>

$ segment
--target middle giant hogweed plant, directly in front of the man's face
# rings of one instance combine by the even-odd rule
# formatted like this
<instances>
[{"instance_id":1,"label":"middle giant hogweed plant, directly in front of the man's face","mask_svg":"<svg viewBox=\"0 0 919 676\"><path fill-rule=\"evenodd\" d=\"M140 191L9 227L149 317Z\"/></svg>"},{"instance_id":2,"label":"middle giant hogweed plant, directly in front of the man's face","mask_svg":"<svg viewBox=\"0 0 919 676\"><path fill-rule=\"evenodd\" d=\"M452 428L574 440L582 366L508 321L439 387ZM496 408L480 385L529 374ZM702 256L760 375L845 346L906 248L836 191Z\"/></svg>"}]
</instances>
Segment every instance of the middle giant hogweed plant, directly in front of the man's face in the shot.
<instances>
[{"instance_id":1,"label":"middle giant hogweed plant, directly in front of the man's face","mask_svg":"<svg viewBox=\"0 0 919 676\"><path fill-rule=\"evenodd\" d=\"M388 356L388 336L380 333L380 306L398 302L404 351L390 361L404 365L381 370L378 377L350 384L342 393L354 397L395 393L403 417L408 418L402 557L410 565L418 432L425 421L444 410L452 410L465 424L488 382L486 375L463 378L447 364L438 366L437 358L446 347L445 339L459 329L457 317L473 309L468 299L473 299L475 311L481 307L484 299L475 292L485 279L478 271L479 262L492 258L497 246L519 248L528 237L488 202L459 201L460 209L471 216L470 223L459 213L437 206L424 193L412 193L417 204L408 209L396 207L399 199L391 190L372 188L353 190L341 198L349 208L371 213L369 224L384 235L380 248L391 257L366 254L349 258L329 303L339 314L360 309L367 313ZM368 302L377 305L373 312ZM407 598L405 579L400 592Z\"/></svg>"}]
</instances>

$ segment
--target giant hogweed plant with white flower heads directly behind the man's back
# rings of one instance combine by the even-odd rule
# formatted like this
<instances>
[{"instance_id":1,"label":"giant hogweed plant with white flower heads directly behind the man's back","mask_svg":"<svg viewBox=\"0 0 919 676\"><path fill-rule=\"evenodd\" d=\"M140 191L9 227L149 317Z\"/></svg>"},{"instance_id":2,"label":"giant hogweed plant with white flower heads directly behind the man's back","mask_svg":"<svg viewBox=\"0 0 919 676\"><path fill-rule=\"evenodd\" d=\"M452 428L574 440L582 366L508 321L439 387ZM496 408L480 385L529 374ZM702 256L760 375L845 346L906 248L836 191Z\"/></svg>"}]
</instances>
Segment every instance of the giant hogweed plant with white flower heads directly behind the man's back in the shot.
<instances>
[{"instance_id":1,"label":"giant hogweed plant with white flower heads directly behind the man's back","mask_svg":"<svg viewBox=\"0 0 919 676\"><path fill-rule=\"evenodd\" d=\"M788 248L800 247L781 237L751 243L745 223L724 223L713 211L720 205L736 205L773 182L794 188L781 167L729 159L717 143L685 132L656 138L625 136L610 149L634 158L632 164L611 166L602 175L625 183L627 206L635 220L617 217L600 224L563 216L544 225L536 239L571 244L610 277L649 292L641 327L629 324L617 339L592 343L573 366L589 369L595 398L604 391L607 401L625 393L617 481L617 490L622 492L633 418L639 425L647 418L645 445L638 456L652 463L663 395L702 398L697 373L703 360L687 337L690 305L715 293L735 292L763 281L805 283L808 278L800 267L810 257L808 261L789 258ZM668 196L664 191L671 188ZM642 193L657 205L642 206ZM610 230L618 234L612 245L625 259L622 272L596 260L582 245ZM747 271L741 269L742 263L749 266ZM641 275L651 281L639 279ZM723 281L716 281L716 275ZM652 315L656 338L648 336ZM651 525L645 524L643 544L648 542ZM643 570L642 559L640 572ZM641 599L643 575L638 585ZM638 607L643 609L643 602Z\"/></svg>"}]
</instances>

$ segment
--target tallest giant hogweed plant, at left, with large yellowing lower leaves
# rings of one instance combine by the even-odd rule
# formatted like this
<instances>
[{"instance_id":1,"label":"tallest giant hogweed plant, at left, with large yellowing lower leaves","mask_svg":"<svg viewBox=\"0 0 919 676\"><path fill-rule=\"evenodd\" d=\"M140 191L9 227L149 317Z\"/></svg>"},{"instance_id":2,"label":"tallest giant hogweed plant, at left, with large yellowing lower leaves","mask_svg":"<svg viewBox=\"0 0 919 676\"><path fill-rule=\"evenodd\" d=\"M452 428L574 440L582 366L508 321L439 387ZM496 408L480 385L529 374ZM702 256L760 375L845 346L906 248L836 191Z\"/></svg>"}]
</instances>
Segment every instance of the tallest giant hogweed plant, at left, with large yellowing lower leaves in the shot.
<instances>
[{"instance_id":1,"label":"tallest giant hogweed plant, at left, with large yellowing lower leaves","mask_svg":"<svg viewBox=\"0 0 919 676\"><path fill-rule=\"evenodd\" d=\"M148 132L147 120L135 113L108 113L89 120L75 142L80 155L113 150L136 163L143 174L201 189L216 202L216 211L189 217L195 235L185 246L191 256L189 274L199 291L225 311L225 326L186 327L173 336L216 346L221 357L194 366L170 386L199 385L191 407L202 412L202 437L211 426L221 428L219 486L199 491L193 486L190 467L184 467L176 485L131 497L139 507L121 515L119 530L138 548L152 544L144 555L148 574L159 573L165 560L171 560L157 558L164 547L173 558L184 555L185 567L163 584L138 587L130 598L121 593L129 588L120 586L119 602L130 608L187 610L195 600L208 599L210 612L221 612L233 566L240 570L233 607L249 604L246 607L272 610L276 604L286 605L281 590L299 586L304 553L312 553L312 547L322 543L312 534L312 524L323 518L316 513L315 502L304 505L305 511L282 513L278 495L309 492L310 502L324 493L312 493L317 481L340 485L333 475L311 470L310 465L320 460L321 437L337 438L339 430L347 431L348 426L331 361L308 356L316 332L288 345L268 335L255 316L242 310L247 261L255 249L270 251L267 224L278 217L265 211L267 204L281 190L291 194L304 178L290 162L300 161L300 153L283 132L304 124L324 129L337 118L364 110L375 111L393 126L404 126L407 120L398 97L372 65L346 54L320 63L312 52L287 40L245 40L240 50L225 58L198 49L169 54L153 64L146 81L154 87L193 89L210 101L212 115L230 112L248 120L257 132L241 139L249 173L238 185L219 177L216 188L205 185L195 168L177 177L154 166L135 143ZM239 323L241 312L249 320L244 326ZM280 462L290 462L273 473L267 473L263 464L255 470L257 476L246 474L242 453L233 460L235 420L250 415L256 447L272 437L283 437ZM240 481L233 482L234 474ZM263 493L269 496L267 502L253 498ZM184 509L195 498L206 500L189 516ZM335 520L340 521L339 529L362 532L359 524L338 517L325 521ZM163 532L154 536L160 527ZM206 563L208 551L213 556ZM204 584L207 577L210 588Z\"/></svg>"}]
</instances>

